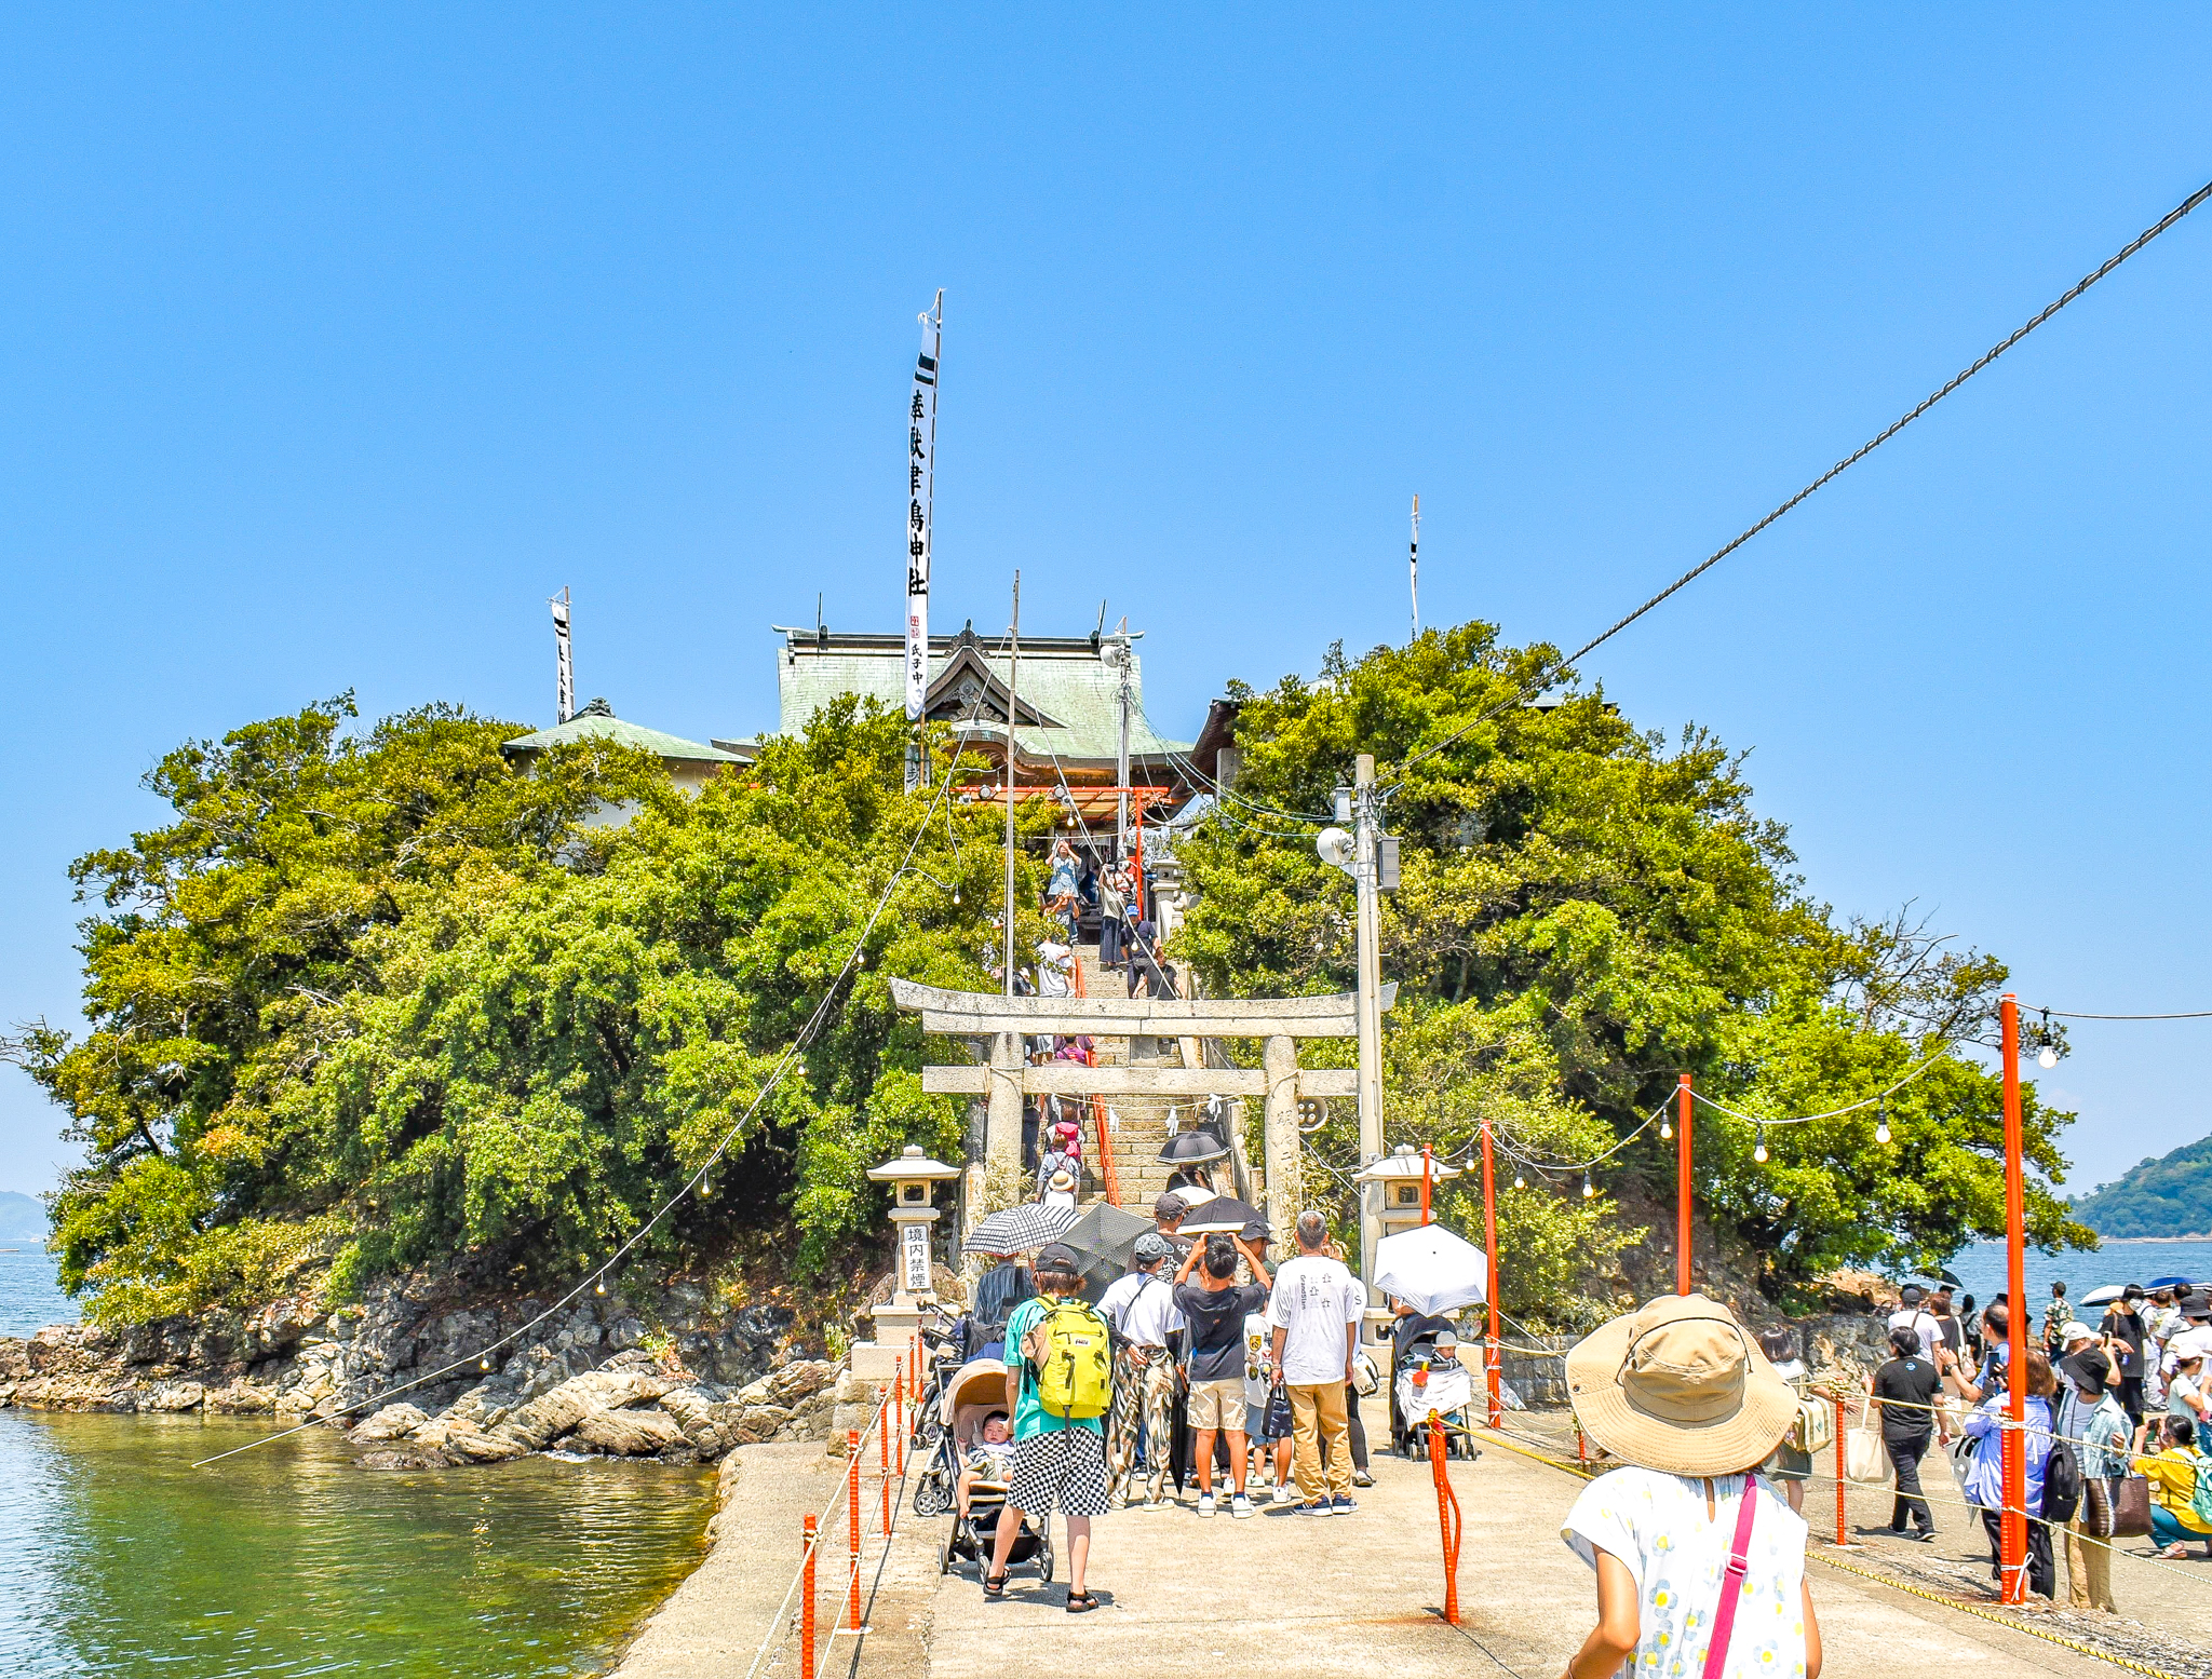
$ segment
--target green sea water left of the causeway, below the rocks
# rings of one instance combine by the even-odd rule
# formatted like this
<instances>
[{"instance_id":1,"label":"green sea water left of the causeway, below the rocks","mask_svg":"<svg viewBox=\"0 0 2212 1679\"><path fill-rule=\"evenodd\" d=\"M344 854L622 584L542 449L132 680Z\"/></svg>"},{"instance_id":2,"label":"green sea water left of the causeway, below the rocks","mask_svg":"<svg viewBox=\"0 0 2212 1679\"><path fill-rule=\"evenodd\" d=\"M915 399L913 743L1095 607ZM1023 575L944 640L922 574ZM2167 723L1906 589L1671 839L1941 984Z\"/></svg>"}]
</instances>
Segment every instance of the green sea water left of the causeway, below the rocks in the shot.
<instances>
[{"instance_id":1,"label":"green sea water left of the causeway, below the rocks","mask_svg":"<svg viewBox=\"0 0 2212 1679\"><path fill-rule=\"evenodd\" d=\"M593 1675L706 1546L712 1473L363 1471L312 1429L0 1411L0 1677Z\"/></svg>"}]
</instances>

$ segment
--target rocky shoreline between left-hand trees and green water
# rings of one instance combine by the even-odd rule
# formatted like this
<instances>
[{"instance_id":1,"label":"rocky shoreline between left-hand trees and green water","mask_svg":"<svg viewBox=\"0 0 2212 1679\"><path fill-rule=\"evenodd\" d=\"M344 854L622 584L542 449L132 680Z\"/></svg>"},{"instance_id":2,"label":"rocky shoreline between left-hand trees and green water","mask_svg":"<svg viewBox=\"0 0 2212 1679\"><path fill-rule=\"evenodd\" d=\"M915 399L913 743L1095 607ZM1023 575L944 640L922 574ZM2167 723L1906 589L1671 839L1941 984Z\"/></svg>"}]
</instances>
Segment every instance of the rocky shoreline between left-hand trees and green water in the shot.
<instances>
[{"instance_id":1,"label":"rocky shoreline between left-hand trees and green water","mask_svg":"<svg viewBox=\"0 0 2212 1679\"><path fill-rule=\"evenodd\" d=\"M783 1305L717 1312L681 1281L617 1290L491 1352L551 1301L453 1294L453 1279L405 1279L336 1310L301 1296L250 1316L0 1336L0 1405L349 1425L363 1467L431 1469L533 1451L719 1462L741 1445L830 1440L845 1398ZM447 1365L460 1369L374 1402Z\"/></svg>"}]
</instances>

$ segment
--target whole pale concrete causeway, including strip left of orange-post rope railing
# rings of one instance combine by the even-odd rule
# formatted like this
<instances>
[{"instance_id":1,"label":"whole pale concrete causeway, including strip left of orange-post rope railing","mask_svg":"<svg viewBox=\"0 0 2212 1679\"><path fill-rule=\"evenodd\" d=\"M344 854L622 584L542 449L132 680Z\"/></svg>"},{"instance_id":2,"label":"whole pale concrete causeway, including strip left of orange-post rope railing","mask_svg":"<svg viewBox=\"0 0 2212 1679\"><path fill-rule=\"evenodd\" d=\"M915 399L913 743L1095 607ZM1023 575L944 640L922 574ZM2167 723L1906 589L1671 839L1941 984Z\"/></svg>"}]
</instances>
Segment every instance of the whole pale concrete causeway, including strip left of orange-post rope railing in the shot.
<instances>
[{"instance_id":1,"label":"whole pale concrete causeway, including strip left of orange-post rope railing","mask_svg":"<svg viewBox=\"0 0 2212 1679\"><path fill-rule=\"evenodd\" d=\"M1385 1440L1369 1405L1369 1438ZM1555 1679L1595 1613L1590 1573L1559 1542L1579 1482L1562 1469L1482 1442L1480 1462L1453 1462L1467 1518L1460 1553L1462 1626L1447 1626L1436 1487L1429 1467L1376 1453L1376 1487L1356 1515L1312 1520L1267 1511L1252 1520L1194 1509L1124 1511L1097 1524L1095 1615L1071 1617L1066 1560L1042 1586L1018 1571L989 1604L973 1564L938 1573L949 1518L900 1513L889 1551L867 1542L867 1633L827 1641L825 1679L1060 1679L1088 1672L1201 1672L1208 1679L1285 1675L1511 1675ZM818 1447L745 1447L717 1542L624 1659L617 1679L745 1679L768 1637L761 1675L799 1672L787 1630L770 1635L799 1557L801 1513L823 1509L843 1464ZM874 1513L874 1493L863 1500ZM821 1624L834 1624L845 1579L843 1518L821 1566ZM1818 1535L1816 1535L1818 1537ZM1825 1679L1891 1679L1898 1670L2051 1672L2112 1679L2119 1668L2008 1626L1820 1566L1814 1602ZM2212 1584L2212 1568L2205 1571ZM2212 1630L2212 1628L2208 1628Z\"/></svg>"}]
</instances>

